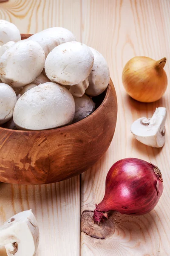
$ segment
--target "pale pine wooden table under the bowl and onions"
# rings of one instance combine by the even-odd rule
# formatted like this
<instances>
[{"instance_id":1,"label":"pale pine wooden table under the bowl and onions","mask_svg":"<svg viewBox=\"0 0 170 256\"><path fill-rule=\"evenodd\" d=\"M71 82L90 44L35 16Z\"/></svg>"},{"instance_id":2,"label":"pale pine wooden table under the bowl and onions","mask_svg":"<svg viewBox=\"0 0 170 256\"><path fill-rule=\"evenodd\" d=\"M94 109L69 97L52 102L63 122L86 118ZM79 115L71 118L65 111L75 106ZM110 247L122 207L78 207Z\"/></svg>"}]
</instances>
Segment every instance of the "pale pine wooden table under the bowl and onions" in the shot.
<instances>
[{"instance_id":1,"label":"pale pine wooden table under the bowl and onions","mask_svg":"<svg viewBox=\"0 0 170 256\"><path fill-rule=\"evenodd\" d=\"M81 177L64 182L45 186L1 183L0 224L31 208L40 227L39 256L170 256L170 88L158 102L144 104L127 96L121 80L125 63L136 55L156 60L167 57L169 79L170 0L9 0L0 3L0 18L16 24L21 33L51 26L70 29L78 41L105 56L118 98L116 132L105 156ZM142 145L130 133L135 119L152 116L159 106L168 109L166 143L161 149ZM80 216L102 200L109 168L125 157L159 166L164 193L149 214L115 213L112 228L102 234L105 239L93 238L85 233L84 222L80 227Z\"/></svg>"}]
</instances>

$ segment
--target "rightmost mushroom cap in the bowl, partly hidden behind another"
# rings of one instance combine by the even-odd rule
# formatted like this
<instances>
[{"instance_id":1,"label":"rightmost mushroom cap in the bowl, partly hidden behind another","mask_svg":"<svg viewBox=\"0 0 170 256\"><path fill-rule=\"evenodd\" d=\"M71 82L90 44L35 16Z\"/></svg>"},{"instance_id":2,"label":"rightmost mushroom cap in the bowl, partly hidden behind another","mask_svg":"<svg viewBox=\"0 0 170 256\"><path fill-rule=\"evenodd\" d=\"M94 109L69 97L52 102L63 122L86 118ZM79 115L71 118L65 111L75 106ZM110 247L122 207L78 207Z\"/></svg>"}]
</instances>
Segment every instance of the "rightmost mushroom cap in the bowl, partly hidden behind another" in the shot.
<instances>
[{"instance_id":1,"label":"rightmost mushroom cap in the bowl, partly hidden behind another","mask_svg":"<svg viewBox=\"0 0 170 256\"><path fill-rule=\"evenodd\" d=\"M108 87L110 73L108 64L100 52L89 47L94 55L94 64L88 76L89 86L85 93L90 96L97 96Z\"/></svg>"}]
</instances>

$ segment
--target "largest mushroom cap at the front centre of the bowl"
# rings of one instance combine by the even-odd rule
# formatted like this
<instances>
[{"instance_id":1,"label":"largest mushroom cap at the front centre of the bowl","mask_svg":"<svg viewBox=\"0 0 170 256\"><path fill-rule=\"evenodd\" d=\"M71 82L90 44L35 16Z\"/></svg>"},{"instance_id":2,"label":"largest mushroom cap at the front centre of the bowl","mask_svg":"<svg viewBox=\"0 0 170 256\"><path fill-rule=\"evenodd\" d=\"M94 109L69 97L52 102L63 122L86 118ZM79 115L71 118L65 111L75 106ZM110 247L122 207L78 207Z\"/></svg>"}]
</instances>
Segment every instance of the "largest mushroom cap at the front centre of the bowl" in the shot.
<instances>
[{"instance_id":1,"label":"largest mushroom cap at the front centre of the bowl","mask_svg":"<svg viewBox=\"0 0 170 256\"><path fill-rule=\"evenodd\" d=\"M74 98L59 84L47 82L24 93L14 108L14 123L25 130L45 130L72 122Z\"/></svg>"}]
</instances>

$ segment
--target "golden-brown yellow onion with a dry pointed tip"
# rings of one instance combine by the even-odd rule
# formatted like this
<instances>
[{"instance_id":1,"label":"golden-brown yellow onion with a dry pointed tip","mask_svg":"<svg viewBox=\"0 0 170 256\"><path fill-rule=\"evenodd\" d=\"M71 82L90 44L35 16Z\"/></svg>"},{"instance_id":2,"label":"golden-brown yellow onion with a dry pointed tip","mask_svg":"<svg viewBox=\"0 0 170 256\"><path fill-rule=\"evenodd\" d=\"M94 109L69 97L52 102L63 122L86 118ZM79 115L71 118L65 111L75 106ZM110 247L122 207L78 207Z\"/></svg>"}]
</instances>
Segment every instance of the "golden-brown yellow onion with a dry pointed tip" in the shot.
<instances>
[{"instance_id":1,"label":"golden-brown yellow onion with a dry pointed tip","mask_svg":"<svg viewBox=\"0 0 170 256\"><path fill-rule=\"evenodd\" d=\"M167 75L164 65L167 59L155 61L148 57L134 57L127 62L122 82L127 93L140 102L155 102L164 95Z\"/></svg>"}]
</instances>

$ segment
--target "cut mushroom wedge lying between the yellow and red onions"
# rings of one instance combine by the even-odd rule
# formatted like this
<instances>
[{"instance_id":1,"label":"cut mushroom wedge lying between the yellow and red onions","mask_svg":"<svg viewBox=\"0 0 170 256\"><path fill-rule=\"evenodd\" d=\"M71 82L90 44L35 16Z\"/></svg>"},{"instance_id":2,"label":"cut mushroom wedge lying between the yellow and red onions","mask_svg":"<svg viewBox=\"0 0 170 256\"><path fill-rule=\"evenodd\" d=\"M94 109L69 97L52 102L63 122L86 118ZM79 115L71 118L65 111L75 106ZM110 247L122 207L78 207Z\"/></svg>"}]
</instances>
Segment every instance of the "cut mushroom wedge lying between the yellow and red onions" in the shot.
<instances>
[{"instance_id":1,"label":"cut mushroom wedge lying between the yellow and red onions","mask_svg":"<svg viewBox=\"0 0 170 256\"><path fill-rule=\"evenodd\" d=\"M141 117L133 122L131 132L141 143L154 148L161 148L165 142L166 118L167 109L156 108L151 118Z\"/></svg>"}]
</instances>

